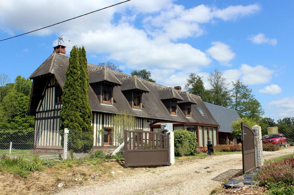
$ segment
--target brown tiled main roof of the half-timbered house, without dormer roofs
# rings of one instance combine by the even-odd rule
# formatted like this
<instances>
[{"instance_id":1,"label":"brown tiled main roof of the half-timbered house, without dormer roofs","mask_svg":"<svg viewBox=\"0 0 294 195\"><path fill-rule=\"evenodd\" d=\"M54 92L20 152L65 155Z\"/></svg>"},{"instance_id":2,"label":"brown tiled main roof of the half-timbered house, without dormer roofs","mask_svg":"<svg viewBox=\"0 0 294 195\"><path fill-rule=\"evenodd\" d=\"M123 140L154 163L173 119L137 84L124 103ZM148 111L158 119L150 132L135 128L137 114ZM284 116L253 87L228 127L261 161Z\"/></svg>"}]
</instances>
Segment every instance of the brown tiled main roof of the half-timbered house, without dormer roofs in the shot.
<instances>
[{"instance_id":1,"label":"brown tiled main roof of the half-timbered house, without dormer roofs","mask_svg":"<svg viewBox=\"0 0 294 195\"><path fill-rule=\"evenodd\" d=\"M49 59L47 59L32 74L33 76L31 75L30 78L34 78L34 82L41 81L41 78L36 78L36 75L40 76L41 73L42 74L52 73L54 74L61 88L63 88L64 82L65 82L66 69L69 65L69 57L62 54L58 54L58 53L55 53L55 55L56 56L54 60L51 59L51 56L50 56ZM45 63L46 63L46 66L44 66ZM48 64L50 64L49 65L50 68L48 68ZM88 74L89 74L89 80L90 80L92 79L91 77L93 75L92 74L93 69L96 69L96 70L98 70L98 68L101 69L101 66L88 63L87 68L88 68ZM123 81L123 78L130 77L130 75L112 71L112 70L109 70L109 72L115 76L115 77L113 76L112 78L116 78L121 83ZM204 105L203 101L201 100L199 96L189 94L197 102L197 105L191 105L191 118L186 117L186 115L181 111L179 107L177 108L178 109L177 115L171 115L171 113L168 111L168 109L165 107L165 105L161 101L160 93L162 93L163 89L165 89L171 92L169 93L171 97L173 98L176 97L179 100L183 100L183 98L179 95L180 91L175 90L173 88L168 88L158 83L152 83L150 81L146 81L141 78L137 78L137 79L138 79L137 81L141 81L140 83L145 85L146 88L149 90L149 93L142 94L142 110L133 109L131 107L128 100L124 96L123 91L121 90L123 85L118 85L116 87L113 87L113 106L101 104L96 94L94 93L92 87L89 86L88 97L89 97L89 103L90 103L91 109L95 112L104 112L104 113L110 113L110 114L115 114L115 113L119 113L121 111L127 110L128 112L132 113L134 116L141 117L141 118L165 120L170 122L194 122L194 123L200 123L200 124L218 125L218 123L212 117L211 113L208 111L208 109L206 108L206 106ZM137 82L137 85L138 85L138 82ZM141 85L139 86L139 85L138 87L141 88L142 86ZM43 91L44 89L39 89L39 90ZM204 113L204 116L202 116L199 113L197 107L201 108L201 110ZM36 108L34 107L29 108L29 110L32 110L32 111L34 111L34 109Z\"/></svg>"}]
</instances>

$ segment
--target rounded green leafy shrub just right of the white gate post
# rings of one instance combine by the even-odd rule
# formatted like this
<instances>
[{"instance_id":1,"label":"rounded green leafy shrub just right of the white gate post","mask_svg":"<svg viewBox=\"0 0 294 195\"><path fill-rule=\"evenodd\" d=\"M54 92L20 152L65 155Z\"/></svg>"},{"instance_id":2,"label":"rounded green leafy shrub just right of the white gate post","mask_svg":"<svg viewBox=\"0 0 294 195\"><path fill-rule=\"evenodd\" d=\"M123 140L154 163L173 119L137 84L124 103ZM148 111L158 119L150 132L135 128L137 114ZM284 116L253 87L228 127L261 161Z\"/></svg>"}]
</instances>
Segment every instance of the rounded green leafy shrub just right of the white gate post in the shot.
<instances>
[{"instance_id":1,"label":"rounded green leafy shrub just right of the white gate post","mask_svg":"<svg viewBox=\"0 0 294 195\"><path fill-rule=\"evenodd\" d=\"M193 132L186 130L174 131L175 155L194 155L197 153L197 139Z\"/></svg>"}]
</instances>

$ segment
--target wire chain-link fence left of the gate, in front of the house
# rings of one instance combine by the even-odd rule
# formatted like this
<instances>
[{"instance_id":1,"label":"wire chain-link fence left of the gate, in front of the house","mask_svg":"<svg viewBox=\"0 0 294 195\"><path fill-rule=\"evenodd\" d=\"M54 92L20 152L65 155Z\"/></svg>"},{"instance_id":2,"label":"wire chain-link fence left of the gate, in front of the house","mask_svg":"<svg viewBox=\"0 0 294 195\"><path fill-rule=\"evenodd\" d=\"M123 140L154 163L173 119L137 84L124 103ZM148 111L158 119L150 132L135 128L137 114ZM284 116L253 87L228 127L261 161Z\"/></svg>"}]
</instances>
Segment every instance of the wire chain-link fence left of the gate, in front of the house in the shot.
<instances>
[{"instance_id":1,"label":"wire chain-link fence left of the gate, in front of the house","mask_svg":"<svg viewBox=\"0 0 294 195\"><path fill-rule=\"evenodd\" d=\"M112 155L123 155L124 144L111 131L70 131L0 129L0 156L41 160L80 159L101 150Z\"/></svg>"}]
</instances>

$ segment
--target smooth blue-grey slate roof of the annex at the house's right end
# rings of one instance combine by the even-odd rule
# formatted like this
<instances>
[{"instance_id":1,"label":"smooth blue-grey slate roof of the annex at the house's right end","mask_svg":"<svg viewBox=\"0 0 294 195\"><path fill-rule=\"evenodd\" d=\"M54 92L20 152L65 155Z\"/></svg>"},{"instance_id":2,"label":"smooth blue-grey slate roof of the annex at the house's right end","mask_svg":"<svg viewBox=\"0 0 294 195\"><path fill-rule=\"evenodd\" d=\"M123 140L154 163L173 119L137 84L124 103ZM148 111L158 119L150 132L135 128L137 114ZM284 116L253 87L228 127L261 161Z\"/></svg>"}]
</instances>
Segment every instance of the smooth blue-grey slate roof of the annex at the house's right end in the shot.
<instances>
[{"instance_id":1,"label":"smooth blue-grey slate roof of the annex at the house's right end","mask_svg":"<svg viewBox=\"0 0 294 195\"><path fill-rule=\"evenodd\" d=\"M235 110L217 106L207 102L204 102L204 104L206 105L208 110L211 112L216 122L220 124L221 127L218 130L219 132L231 133L233 130L230 124L233 121L236 121L237 119L241 119L241 117Z\"/></svg>"}]
</instances>

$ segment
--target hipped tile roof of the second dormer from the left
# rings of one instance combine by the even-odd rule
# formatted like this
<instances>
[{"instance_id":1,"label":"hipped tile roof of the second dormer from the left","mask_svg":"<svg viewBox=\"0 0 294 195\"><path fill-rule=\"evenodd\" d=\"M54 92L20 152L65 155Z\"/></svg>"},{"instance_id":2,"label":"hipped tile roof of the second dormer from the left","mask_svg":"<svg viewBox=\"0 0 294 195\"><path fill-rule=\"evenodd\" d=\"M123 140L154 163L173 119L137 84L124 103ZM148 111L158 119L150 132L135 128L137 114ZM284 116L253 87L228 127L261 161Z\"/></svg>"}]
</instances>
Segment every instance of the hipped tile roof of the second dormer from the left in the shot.
<instances>
[{"instance_id":1,"label":"hipped tile roof of the second dormer from the left","mask_svg":"<svg viewBox=\"0 0 294 195\"><path fill-rule=\"evenodd\" d=\"M121 80L122 86L121 90L140 90L145 92L150 92L150 90L142 83L142 81L137 76L127 76Z\"/></svg>"}]
</instances>

